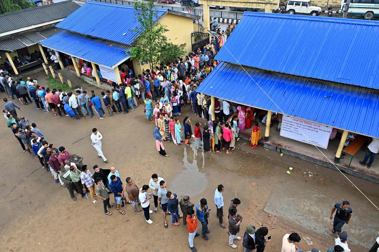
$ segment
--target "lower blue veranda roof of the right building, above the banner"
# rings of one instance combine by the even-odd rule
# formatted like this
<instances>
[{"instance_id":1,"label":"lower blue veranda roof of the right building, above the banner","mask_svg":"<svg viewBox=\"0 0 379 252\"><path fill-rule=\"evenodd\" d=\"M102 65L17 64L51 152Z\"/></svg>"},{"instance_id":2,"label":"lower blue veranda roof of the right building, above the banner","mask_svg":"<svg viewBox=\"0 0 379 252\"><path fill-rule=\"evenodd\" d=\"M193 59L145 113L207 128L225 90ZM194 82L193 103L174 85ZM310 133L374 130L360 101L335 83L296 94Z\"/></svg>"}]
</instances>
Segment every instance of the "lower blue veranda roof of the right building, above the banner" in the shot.
<instances>
[{"instance_id":1,"label":"lower blue veranda roof of the right building, above the banner","mask_svg":"<svg viewBox=\"0 0 379 252\"><path fill-rule=\"evenodd\" d=\"M379 91L245 67L287 115L379 137ZM280 112L239 65L220 63L196 91Z\"/></svg>"}]
</instances>

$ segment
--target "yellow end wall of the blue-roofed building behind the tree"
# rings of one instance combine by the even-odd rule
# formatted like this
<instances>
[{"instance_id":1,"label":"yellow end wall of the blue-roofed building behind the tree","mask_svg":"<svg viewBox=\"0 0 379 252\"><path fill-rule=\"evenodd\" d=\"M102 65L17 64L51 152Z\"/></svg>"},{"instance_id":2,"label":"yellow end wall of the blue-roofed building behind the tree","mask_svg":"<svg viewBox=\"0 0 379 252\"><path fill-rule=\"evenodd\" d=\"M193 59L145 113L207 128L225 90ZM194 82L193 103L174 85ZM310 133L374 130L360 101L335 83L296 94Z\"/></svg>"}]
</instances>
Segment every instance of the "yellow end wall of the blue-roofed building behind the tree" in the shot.
<instances>
[{"instance_id":1,"label":"yellow end wall of the blue-roofed building behind the tree","mask_svg":"<svg viewBox=\"0 0 379 252\"><path fill-rule=\"evenodd\" d=\"M164 16L160 23L166 25L169 30L164 34L169 41L174 44L184 44L186 43L185 50L187 53L192 51L191 48L191 32L194 30L193 20L189 17L178 16L174 14L167 14ZM180 29L178 29L180 27ZM184 55L179 55L184 56ZM135 75L142 73L142 69L150 69L149 64L140 65L140 62L137 62L133 59L133 67ZM158 64L157 64L158 65ZM158 65L159 66L159 65ZM155 67L155 66L154 66ZM151 69L150 69L151 70Z\"/></svg>"}]
</instances>

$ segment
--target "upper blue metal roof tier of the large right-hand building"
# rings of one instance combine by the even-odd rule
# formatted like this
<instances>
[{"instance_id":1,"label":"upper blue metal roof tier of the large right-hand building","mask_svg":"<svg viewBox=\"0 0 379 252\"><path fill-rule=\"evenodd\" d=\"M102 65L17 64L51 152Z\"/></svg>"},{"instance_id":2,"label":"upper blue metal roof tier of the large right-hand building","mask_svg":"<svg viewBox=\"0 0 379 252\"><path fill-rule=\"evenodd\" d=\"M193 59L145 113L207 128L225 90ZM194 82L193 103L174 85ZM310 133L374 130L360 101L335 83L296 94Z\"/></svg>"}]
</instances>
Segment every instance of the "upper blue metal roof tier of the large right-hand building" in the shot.
<instances>
[{"instance_id":1,"label":"upper blue metal roof tier of the large right-hand building","mask_svg":"<svg viewBox=\"0 0 379 252\"><path fill-rule=\"evenodd\" d=\"M216 59L379 89L378 41L377 21L245 11Z\"/></svg>"}]
</instances>

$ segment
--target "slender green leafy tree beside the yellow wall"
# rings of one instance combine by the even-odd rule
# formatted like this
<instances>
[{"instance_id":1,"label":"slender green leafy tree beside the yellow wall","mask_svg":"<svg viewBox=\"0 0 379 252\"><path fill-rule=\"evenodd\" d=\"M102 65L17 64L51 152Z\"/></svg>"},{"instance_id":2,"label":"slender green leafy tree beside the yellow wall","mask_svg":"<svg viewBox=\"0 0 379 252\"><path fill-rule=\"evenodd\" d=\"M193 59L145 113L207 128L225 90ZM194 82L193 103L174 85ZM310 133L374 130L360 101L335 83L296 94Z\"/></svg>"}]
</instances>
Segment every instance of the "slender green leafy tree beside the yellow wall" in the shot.
<instances>
[{"instance_id":1,"label":"slender green leafy tree beside the yellow wall","mask_svg":"<svg viewBox=\"0 0 379 252\"><path fill-rule=\"evenodd\" d=\"M164 36L169 30L167 26L157 21L158 13L153 6L153 0L134 2L135 21L141 26L131 30L139 35L135 40L136 46L130 50L132 59L141 64L149 63L150 69L153 69L158 62L172 61L186 53L184 50L186 44L175 45Z\"/></svg>"}]
</instances>

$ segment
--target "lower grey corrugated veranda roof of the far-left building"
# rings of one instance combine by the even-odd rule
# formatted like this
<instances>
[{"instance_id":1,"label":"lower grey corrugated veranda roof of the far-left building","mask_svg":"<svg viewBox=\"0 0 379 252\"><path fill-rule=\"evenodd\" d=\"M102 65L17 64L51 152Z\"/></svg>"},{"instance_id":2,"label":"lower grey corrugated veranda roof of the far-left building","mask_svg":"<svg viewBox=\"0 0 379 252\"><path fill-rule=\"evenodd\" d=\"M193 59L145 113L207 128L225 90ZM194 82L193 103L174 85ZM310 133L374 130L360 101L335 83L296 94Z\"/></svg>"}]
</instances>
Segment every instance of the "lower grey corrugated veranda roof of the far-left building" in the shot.
<instances>
[{"instance_id":1,"label":"lower grey corrugated veranda roof of the far-left building","mask_svg":"<svg viewBox=\"0 0 379 252\"><path fill-rule=\"evenodd\" d=\"M60 28L49 27L37 31L29 31L26 33L17 33L16 36L9 36L0 39L0 47L7 51L14 51L20 48L28 47L30 45L38 44L44 39L53 36L60 32Z\"/></svg>"}]
</instances>

